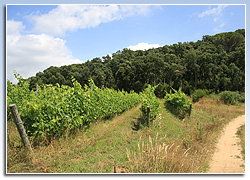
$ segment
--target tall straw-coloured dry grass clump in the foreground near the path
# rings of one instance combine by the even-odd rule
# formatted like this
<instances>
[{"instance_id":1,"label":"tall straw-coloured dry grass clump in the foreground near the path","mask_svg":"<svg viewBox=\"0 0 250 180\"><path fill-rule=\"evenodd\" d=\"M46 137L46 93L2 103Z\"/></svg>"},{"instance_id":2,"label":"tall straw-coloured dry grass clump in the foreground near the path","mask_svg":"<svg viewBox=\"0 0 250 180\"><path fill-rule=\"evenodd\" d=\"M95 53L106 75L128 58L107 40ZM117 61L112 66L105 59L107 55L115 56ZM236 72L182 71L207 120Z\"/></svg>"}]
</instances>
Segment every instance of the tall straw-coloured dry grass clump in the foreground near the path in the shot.
<instances>
[{"instance_id":1,"label":"tall straw-coloured dry grass clump in the foreground near the path","mask_svg":"<svg viewBox=\"0 0 250 180\"><path fill-rule=\"evenodd\" d=\"M157 143L157 136L149 142L139 141L138 151L127 149L128 171L132 173L199 173L204 157L193 148L185 149L182 143ZM190 153L191 152L191 153ZM204 153L203 153L204 154Z\"/></svg>"}]
</instances>

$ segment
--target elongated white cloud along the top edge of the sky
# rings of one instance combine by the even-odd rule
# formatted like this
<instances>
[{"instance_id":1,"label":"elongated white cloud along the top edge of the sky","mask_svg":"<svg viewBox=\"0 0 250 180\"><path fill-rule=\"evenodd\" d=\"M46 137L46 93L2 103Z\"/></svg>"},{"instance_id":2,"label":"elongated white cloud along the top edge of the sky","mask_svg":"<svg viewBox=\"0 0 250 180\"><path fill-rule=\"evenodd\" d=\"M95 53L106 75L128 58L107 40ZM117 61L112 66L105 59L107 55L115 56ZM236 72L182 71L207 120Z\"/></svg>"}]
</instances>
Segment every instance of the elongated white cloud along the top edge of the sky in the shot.
<instances>
[{"instance_id":1,"label":"elongated white cloud along the top edge of the sky","mask_svg":"<svg viewBox=\"0 0 250 180\"><path fill-rule=\"evenodd\" d=\"M145 5L59 5L48 14L30 15L34 31L63 36L67 31L96 27L101 23L128 16L146 15L150 6Z\"/></svg>"}]
</instances>

